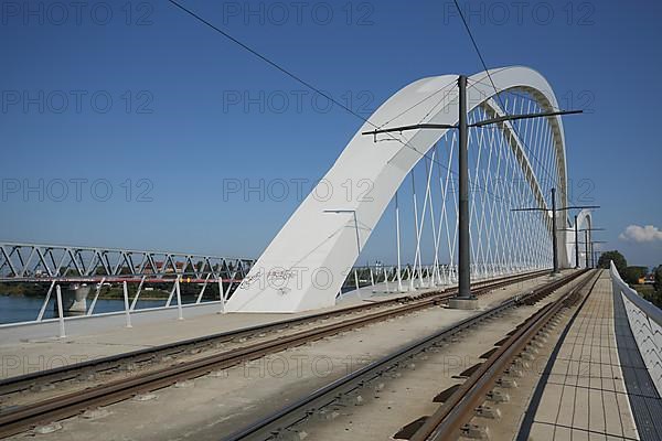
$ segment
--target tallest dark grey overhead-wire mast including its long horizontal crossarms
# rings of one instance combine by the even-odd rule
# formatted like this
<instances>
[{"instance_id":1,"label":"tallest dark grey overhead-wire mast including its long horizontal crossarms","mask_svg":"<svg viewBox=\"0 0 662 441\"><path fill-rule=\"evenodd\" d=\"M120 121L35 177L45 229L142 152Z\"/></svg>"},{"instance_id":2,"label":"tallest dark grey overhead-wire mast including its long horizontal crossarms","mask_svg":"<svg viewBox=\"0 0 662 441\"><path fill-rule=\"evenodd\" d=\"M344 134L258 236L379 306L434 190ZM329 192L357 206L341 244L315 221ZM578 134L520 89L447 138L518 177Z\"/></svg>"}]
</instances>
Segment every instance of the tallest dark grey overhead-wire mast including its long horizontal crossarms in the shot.
<instances>
[{"instance_id":1,"label":"tallest dark grey overhead-wire mast including its long horizontal crossarms","mask_svg":"<svg viewBox=\"0 0 662 441\"><path fill-rule=\"evenodd\" d=\"M495 90L496 92L496 90ZM389 132L403 132L407 130L448 130L457 129L459 131L458 142L458 176L459 176L459 198L458 198L458 299L469 300L476 299L471 293L471 245L469 237L469 128L484 127L493 123L503 123L505 121L514 121L519 119L532 119L553 117L560 115L581 114L583 110L559 110L559 111L542 111L536 114L519 114L504 115L484 119L482 121L468 123L467 122L467 76L458 76L458 95L459 95L459 116L457 125L447 123L416 123L409 126L392 127L385 129L375 129L364 131L361 135L373 136L375 142L377 135Z\"/></svg>"}]
</instances>

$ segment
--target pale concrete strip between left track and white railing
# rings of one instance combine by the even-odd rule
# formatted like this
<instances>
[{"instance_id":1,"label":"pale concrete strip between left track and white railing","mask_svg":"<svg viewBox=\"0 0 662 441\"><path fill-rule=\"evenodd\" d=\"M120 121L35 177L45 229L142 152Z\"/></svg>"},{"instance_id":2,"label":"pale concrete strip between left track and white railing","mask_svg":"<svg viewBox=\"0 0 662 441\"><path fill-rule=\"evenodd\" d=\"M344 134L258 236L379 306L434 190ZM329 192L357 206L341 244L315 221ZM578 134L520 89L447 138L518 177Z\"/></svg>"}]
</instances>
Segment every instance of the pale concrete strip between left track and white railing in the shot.
<instances>
[{"instance_id":1,"label":"pale concrete strip between left track and white railing","mask_svg":"<svg viewBox=\"0 0 662 441\"><path fill-rule=\"evenodd\" d=\"M202 304L177 320L177 308L156 313L134 313L132 327L125 326L124 313L66 320L66 337L57 337L57 321L9 326L0 330L0 379L57 368L105 356L171 344L210 334L275 323L297 316L334 311L366 302L387 300L403 293L363 288L362 295L349 295L335 306L300 313L221 314L218 302ZM417 291L417 293L424 290Z\"/></svg>"}]
</instances>

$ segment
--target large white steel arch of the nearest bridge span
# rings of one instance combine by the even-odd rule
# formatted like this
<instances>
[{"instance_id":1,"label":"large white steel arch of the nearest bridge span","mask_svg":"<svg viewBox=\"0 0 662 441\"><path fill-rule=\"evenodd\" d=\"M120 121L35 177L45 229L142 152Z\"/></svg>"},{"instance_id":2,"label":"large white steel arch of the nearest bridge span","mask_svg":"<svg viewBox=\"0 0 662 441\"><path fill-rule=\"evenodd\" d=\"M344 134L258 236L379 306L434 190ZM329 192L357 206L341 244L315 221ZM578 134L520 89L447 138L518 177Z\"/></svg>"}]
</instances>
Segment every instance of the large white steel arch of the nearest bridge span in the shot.
<instances>
[{"instance_id":1,"label":"large white steel arch of the nearest bridge span","mask_svg":"<svg viewBox=\"0 0 662 441\"><path fill-rule=\"evenodd\" d=\"M543 110L558 104L547 80L526 67L490 71L499 93L520 90L535 99ZM423 78L388 98L350 140L318 187L308 195L276 235L249 275L227 303L228 311L296 312L332 305L344 275L382 217L396 191L447 130L413 130L394 135L389 142L374 142L362 136L375 127L413 122L457 123L457 76ZM487 73L469 77L469 110L503 115ZM566 206L567 172L565 139L559 117L548 117L558 173L557 206ZM546 208L545 195L531 166L526 149L510 122L500 125L534 194L534 203ZM372 187L370 196L351 200L343 184L361 182ZM313 195L323 194L324 197ZM560 247L565 251L565 247ZM565 255L565 252L564 252ZM562 256L567 262L567 256Z\"/></svg>"}]
</instances>

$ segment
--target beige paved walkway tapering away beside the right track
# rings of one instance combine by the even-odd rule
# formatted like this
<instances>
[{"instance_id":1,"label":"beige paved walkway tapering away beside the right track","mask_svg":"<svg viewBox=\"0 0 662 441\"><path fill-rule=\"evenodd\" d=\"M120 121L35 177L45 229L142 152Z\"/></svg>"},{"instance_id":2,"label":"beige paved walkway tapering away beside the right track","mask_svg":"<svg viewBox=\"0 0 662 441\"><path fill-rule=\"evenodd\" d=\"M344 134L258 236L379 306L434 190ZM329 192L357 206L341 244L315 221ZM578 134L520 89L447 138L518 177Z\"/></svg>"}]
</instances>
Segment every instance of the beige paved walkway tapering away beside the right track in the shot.
<instances>
[{"instance_id":1,"label":"beige paved walkway tapering away beside the right track","mask_svg":"<svg viewBox=\"0 0 662 441\"><path fill-rule=\"evenodd\" d=\"M608 271L574 318L534 397L533 441L639 440L615 332L615 302ZM549 368L551 367L551 368ZM520 439L522 439L521 433Z\"/></svg>"}]
</instances>

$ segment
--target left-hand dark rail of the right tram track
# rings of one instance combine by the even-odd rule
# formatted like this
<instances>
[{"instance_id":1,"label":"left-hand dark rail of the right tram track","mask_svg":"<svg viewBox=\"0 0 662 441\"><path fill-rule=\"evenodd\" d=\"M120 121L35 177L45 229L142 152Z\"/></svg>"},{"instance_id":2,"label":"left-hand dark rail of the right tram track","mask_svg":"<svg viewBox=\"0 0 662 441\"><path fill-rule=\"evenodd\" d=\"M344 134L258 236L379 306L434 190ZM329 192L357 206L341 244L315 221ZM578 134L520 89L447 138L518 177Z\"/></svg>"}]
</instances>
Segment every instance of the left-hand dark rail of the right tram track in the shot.
<instances>
[{"instance_id":1,"label":"left-hand dark rail of the right tram track","mask_svg":"<svg viewBox=\"0 0 662 441\"><path fill-rule=\"evenodd\" d=\"M491 318L502 311L516 306L523 303L530 295L538 295L541 293L552 293L562 286L570 282L577 277L585 273L585 271L577 271L556 281L547 283L534 290L532 293L524 294L522 297L515 297L510 300L502 302L501 304L491 308L484 312L481 312L471 318L465 319L461 322L448 326L439 332L426 336L413 344L409 344L402 349L387 355L386 357L376 361L362 369L359 369L352 374L349 374L328 386L318 389L311 395L302 398L299 401L266 417L255 423L242 429L241 431L224 438L224 441L263 441L277 438L281 432L293 427L295 424L305 421L312 413L320 409L328 407L334 402L338 402L342 396L352 392L355 389L361 388L372 379L383 376L386 372L396 368L401 363L407 361L409 357L425 351L426 348L435 345L437 342L448 338L458 332L473 326L477 323Z\"/></svg>"}]
</instances>

